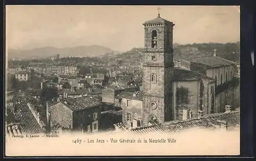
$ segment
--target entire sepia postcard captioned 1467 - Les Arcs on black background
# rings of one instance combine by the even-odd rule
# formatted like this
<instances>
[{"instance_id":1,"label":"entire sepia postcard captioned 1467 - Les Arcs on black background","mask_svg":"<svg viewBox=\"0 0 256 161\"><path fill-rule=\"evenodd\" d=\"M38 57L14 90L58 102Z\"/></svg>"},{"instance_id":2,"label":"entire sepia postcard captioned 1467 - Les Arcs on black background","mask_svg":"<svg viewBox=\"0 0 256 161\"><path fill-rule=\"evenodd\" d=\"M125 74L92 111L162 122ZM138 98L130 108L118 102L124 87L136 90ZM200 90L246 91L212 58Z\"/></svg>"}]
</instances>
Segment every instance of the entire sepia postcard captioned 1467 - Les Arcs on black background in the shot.
<instances>
[{"instance_id":1,"label":"entire sepia postcard captioned 1467 - Les Arcs on black background","mask_svg":"<svg viewBox=\"0 0 256 161\"><path fill-rule=\"evenodd\" d=\"M240 6L5 14L6 156L240 154Z\"/></svg>"}]
</instances>

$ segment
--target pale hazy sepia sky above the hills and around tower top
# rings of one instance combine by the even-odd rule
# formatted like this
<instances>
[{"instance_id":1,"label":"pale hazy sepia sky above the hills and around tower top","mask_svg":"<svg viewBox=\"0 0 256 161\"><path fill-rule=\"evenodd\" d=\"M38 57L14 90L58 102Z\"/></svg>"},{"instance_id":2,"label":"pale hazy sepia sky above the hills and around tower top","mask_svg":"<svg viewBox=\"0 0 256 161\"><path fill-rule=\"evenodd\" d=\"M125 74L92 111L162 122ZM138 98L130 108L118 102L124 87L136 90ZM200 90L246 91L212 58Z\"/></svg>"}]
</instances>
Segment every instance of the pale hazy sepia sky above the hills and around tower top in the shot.
<instances>
[{"instance_id":1,"label":"pale hazy sepia sky above the hills and around tower top","mask_svg":"<svg viewBox=\"0 0 256 161\"><path fill-rule=\"evenodd\" d=\"M102 45L117 51L143 47L143 22L175 23L174 43L240 41L234 6L6 6L6 45L11 49Z\"/></svg>"}]
</instances>

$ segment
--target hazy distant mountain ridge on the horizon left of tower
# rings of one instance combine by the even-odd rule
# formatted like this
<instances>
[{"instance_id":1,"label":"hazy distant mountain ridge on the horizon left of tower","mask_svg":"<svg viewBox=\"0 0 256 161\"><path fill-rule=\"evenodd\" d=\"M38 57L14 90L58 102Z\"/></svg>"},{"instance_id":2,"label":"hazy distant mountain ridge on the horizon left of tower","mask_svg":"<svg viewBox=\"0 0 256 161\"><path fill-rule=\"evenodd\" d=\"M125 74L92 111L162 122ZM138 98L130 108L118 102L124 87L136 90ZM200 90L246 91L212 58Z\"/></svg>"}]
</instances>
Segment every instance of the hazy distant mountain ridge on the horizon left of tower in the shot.
<instances>
[{"instance_id":1,"label":"hazy distant mountain ridge on the horizon left of tower","mask_svg":"<svg viewBox=\"0 0 256 161\"><path fill-rule=\"evenodd\" d=\"M52 46L34 48L29 50L8 49L8 59L33 59L47 58L59 54L59 57L99 57L105 53L120 53L111 48L91 45L56 48Z\"/></svg>"}]
</instances>

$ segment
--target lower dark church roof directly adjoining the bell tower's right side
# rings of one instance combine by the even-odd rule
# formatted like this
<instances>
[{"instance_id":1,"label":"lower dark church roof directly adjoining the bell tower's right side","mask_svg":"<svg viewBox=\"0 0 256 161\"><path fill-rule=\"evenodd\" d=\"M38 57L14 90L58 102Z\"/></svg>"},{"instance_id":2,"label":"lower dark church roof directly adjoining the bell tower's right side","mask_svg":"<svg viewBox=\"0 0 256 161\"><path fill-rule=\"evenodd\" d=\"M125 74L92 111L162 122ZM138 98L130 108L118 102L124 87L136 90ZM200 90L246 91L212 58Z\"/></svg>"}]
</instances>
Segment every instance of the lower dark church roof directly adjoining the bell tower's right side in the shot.
<instances>
[{"instance_id":1,"label":"lower dark church roof directly adjoining the bell tower's right side","mask_svg":"<svg viewBox=\"0 0 256 161\"><path fill-rule=\"evenodd\" d=\"M200 74L195 71L182 69L182 68L174 68L174 77L172 78L173 81L193 81L205 79L209 82L215 81L213 78L208 77L206 75Z\"/></svg>"}]
</instances>

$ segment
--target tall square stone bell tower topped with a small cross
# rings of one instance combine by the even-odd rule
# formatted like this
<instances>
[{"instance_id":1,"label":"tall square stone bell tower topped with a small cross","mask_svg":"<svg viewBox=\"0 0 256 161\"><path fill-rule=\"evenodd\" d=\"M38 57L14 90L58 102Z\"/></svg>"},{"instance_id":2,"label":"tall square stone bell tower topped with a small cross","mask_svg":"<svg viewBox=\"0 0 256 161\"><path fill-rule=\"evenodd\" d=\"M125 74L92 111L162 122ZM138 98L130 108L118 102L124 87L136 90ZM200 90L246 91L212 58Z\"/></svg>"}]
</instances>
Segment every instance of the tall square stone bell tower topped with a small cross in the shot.
<instances>
[{"instance_id":1,"label":"tall square stone bell tower topped with a small cross","mask_svg":"<svg viewBox=\"0 0 256 161\"><path fill-rule=\"evenodd\" d=\"M143 115L148 121L173 120L173 22L160 17L143 23L145 48L143 53Z\"/></svg>"}]
</instances>

